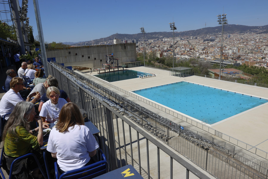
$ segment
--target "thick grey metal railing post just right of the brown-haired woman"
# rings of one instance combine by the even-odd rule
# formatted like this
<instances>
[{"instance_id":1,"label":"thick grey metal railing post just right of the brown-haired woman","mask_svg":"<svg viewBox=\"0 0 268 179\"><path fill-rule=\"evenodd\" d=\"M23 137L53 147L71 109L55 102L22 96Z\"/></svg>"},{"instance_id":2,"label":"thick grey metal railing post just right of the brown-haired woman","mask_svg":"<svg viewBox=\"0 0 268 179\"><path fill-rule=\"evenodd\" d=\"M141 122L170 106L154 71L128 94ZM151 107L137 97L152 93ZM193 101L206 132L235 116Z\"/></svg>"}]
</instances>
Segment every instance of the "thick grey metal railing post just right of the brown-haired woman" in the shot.
<instances>
[{"instance_id":1,"label":"thick grey metal railing post just right of the brown-haired woman","mask_svg":"<svg viewBox=\"0 0 268 179\"><path fill-rule=\"evenodd\" d=\"M112 114L111 111L105 107L105 111L106 111L106 119L107 119L107 129L108 129L108 137L109 137L109 145L110 147L110 154L111 154L111 158L110 158L110 163L111 163L111 169L115 170L117 169L116 166L116 150L115 150L115 139L114 139L114 133L113 133L113 119L112 119ZM118 126L117 126L118 127ZM120 149L120 146L119 146Z\"/></svg>"}]
</instances>

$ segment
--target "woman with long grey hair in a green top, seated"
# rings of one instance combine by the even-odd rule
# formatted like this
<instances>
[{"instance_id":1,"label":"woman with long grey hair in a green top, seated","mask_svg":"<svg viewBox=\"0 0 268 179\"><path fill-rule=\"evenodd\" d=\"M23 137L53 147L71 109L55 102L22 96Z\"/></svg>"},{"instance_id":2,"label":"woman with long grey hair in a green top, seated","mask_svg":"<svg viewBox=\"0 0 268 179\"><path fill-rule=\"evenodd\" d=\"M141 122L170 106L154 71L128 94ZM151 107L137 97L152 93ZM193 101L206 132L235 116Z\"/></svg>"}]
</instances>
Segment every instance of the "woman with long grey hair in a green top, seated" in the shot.
<instances>
[{"instance_id":1,"label":"woman with long grey hair in a green top, seated","mask_svg":"<svg viewBox=\"0 0 268 179\"><path fill-rule=\"evenodd\" d=\"M4 127L3 142L4 156L7 160L7 169L10 170L11 163L19 156L25 155L30 151L40 150L43 145L43 128L49 128L47 124L42 125L40 116L35 116L35 108L32 103L21 101L16 104L14 110ZM37 121L39 126L30 130L30 122ZM37 137L32 135L38 131ZM22 160L13 169L13 175L17 178L31 178L29 169L30 161ZM35 164L36 165L36 164ZM28 172L27 172L28 171ZM26 175L26 176L25 176Z\"/></svg>"}]
</instances>

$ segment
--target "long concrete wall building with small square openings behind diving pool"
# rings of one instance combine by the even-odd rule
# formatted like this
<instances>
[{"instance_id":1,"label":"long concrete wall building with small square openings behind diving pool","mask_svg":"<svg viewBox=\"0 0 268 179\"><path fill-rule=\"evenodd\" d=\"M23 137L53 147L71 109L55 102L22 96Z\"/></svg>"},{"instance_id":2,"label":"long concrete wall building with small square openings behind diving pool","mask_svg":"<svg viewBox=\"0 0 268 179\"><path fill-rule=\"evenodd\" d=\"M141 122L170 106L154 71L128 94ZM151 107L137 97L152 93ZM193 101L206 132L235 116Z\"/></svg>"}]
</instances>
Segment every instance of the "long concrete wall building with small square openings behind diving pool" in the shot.
<instances>
[{"instance_id":1,"label":"long concrete wall building with small square openings behind diving pool","mask_svg":"<svg viewBox=\"0 0 268 179\"><path fill-rule=\"evenodd\" d=\"M91 69L102 68L102 64L106 64L105 55L112 53L119 59L119 66L137 60L135 43L46 49L47 58L54 58L58 63Z\"/></svg>"}]
</instances>

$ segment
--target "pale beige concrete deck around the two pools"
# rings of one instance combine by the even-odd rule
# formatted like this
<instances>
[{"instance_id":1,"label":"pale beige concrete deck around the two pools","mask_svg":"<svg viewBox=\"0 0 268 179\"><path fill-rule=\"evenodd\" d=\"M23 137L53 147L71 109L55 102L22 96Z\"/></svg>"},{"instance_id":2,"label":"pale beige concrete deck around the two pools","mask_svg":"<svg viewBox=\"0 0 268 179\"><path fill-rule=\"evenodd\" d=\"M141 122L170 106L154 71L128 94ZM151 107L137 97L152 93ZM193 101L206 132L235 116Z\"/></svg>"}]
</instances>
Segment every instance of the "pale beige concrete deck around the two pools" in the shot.
<instances>
[{"instance_id":1,"label":"pale beige concrete deck around the two pools","mask_svg":"<svg viewBox=\"0 0 268 179\"><path fill-rule=\"evenodd\" d=\"M224 90L240 92L243 94L259 96L261 98L268 98L267 88L238 84L228 81L219 81L198 76L179 78L170 76L169 71L148 67L135 67L129 69L152 73L156 76L149 78L136 78L124 81L116 81L112 82L111 84L127 91L133 91L186 80L188 82L204 84L210 87L216 87ZM140 103L143 102L140 101ZM158 109L155 108L155 110ZM268 118L266 114L267 110L268 104L264 104L260 107L255 107L254 109L250 109L246 112L240 113L239 115L233 116L229 118L229 120L225 120L215 125L212 125L212 128L268 152ZM181 123L180 121L181 120L176 120L174 122Z\"/></svg>"}]
</instances>

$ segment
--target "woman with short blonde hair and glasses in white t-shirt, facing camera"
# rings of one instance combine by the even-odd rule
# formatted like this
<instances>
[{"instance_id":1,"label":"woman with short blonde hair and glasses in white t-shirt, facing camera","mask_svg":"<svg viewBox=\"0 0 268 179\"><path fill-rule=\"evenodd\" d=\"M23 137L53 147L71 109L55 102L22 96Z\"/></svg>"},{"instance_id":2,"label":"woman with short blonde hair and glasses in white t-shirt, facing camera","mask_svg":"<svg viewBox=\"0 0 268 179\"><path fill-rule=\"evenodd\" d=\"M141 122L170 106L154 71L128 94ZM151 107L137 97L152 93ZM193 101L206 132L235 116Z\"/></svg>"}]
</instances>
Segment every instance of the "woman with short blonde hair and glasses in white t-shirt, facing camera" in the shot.
<instances>
[{"instance_id":1,"label":"woman with short blonde hair and glasses in white t-shirt, facing camera","mask_svg":"<svg viewBox=\"0 0 268 179\"><path fill-rule=\"evenodd\" d=\"M63 98L59 98L60 91L57 87L48 87L46 90L46 96L49 101L46 101L40 111L40 117L45 124L58 121L60 110L67 101Z\"/></svg>"}]
</instances>

